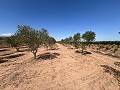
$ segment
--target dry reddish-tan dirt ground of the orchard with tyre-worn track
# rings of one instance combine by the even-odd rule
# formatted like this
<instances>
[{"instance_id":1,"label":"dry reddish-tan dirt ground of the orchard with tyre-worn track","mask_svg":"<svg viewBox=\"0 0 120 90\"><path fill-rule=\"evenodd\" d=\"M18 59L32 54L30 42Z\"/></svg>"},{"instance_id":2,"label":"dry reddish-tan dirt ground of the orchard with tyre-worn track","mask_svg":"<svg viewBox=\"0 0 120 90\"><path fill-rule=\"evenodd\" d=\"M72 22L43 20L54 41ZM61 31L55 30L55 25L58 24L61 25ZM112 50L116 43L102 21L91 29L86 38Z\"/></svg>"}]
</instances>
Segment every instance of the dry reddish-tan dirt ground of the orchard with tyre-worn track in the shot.
<instances>
[{"instance_id":1,"label":"dry reddish-tan dirt ground of the orchard with tyre-worn track","mask_svg":"<svg viewBox=\"0 0 120 90\"><path fill-rule=\"evenodd\" d=\"M23 54L16 58L0 56L0 90L120 90L120 59L57 46L40 48L36 60L30 52L15 52ZM46 52L54 57L39 57Z\"/></svg>"}]
</instances>

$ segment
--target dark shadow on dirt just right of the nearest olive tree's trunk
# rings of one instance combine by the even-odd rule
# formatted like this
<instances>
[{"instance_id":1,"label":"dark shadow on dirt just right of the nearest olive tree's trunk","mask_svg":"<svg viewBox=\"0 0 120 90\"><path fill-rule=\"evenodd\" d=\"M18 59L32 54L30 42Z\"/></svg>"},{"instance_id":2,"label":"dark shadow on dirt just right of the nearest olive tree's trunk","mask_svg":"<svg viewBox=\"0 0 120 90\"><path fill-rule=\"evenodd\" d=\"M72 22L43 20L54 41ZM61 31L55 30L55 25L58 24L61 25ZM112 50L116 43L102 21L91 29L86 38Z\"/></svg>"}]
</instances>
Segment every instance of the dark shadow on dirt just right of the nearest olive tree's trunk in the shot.
<instances>
[{"instance_id":1,"label":"dark shadow on dirt just right of the nearest olive tree's trunk","mask_svg":"<svg viewBox=\"0 0 120 90\"><path fill-rule=\"evenodd\" d=\"M37 56L37 59L41 59L41 60L47 60L47 59L54 59L54 58L57 58L57 56L59 56L60 54L59 53L50 53L50 52L47 52L47 53L43 53L43 54L40 54Z\"/></svg>"}]
</instances>

